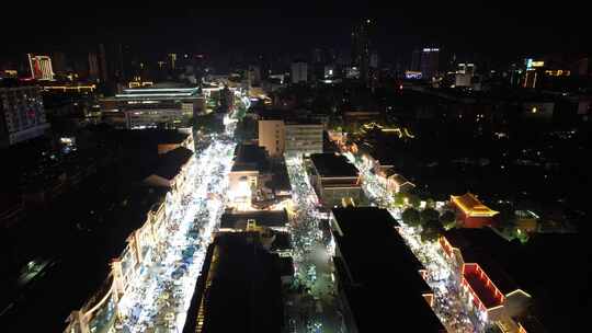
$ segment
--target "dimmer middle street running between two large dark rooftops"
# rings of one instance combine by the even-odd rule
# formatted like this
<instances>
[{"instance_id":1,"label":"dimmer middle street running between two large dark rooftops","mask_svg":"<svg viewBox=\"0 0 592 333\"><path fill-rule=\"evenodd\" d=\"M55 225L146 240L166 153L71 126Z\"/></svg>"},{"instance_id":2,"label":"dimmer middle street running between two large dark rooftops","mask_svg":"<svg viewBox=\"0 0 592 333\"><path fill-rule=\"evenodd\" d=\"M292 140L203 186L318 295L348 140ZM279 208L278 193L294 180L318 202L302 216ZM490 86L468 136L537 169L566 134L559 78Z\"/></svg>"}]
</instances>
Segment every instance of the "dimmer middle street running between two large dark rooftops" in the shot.
<instances>
[{"instance_id":1,"label":"dimmer middle street running between two large dark rooftops","mask_svg":"<svg viewBox=\"0 0 592 333\"><path fill-rule=\"evenodd\" d=\"M341 305L332 279L333 241L320 230L322 214L303 159L286 157L286 166L295 207L289 227L296 291L287 295L286 302L292 332L343 332Z\"/></svg>"}]
</instances>

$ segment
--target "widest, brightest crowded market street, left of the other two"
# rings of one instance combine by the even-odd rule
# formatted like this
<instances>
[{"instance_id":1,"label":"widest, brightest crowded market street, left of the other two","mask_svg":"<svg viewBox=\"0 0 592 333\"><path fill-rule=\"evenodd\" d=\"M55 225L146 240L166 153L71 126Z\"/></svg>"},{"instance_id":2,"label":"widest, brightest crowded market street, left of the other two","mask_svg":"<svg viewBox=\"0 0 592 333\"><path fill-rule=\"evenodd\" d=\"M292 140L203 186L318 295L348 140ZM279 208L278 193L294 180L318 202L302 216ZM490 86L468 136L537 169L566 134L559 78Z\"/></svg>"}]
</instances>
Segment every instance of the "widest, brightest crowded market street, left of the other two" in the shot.
<instances>
[{"instance_id":1,"label":"widest, brightest crowded market street, left of the other two","mask_svg":"<svg viewBox=\"0 0 592 333\"><path fill-rule=\"evenodd\" d=\"M189 180L195 185L174 206L149 264L129 282L118 303L116 331L182 330L212 231L224 211L234 148L234 142L213 138L192 158Z\"/></svg>"}]
</instances>

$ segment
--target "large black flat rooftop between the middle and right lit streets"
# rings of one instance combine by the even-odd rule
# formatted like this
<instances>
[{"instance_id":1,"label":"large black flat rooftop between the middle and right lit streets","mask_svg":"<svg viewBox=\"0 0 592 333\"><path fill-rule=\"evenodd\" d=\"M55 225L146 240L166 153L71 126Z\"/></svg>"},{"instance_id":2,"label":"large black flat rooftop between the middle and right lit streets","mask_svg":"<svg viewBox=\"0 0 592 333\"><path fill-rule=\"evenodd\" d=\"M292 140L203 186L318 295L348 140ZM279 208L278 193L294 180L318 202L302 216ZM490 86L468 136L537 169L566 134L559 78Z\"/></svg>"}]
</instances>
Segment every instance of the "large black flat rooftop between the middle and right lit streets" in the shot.
<instances>
[{"instance_id":1,"label":"large black flat rooftop between the middle and right lit streets","mask_svg":"<svg viewBox=\"0 0 592 333\"><path fill-rule=\"evenodd\" d=\"M401 332L444 332L423 298L433 294L420 275L422 265L376 207L333 209L339 278L358 331L392 328ZM385 307L384 305L389 305Z\"/></svg>"}]
</instances>

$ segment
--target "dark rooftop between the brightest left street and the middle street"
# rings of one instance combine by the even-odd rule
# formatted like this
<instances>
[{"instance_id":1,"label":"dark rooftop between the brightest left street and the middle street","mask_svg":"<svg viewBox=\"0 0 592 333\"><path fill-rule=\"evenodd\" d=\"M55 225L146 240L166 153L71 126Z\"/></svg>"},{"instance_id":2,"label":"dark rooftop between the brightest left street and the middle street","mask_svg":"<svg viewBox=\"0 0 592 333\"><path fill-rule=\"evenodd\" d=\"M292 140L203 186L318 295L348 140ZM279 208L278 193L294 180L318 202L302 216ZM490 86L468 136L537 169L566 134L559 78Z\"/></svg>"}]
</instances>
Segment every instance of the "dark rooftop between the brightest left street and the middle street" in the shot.
<instances>
[{"instance_id":1,"label":"dark rooftop between the brightest left street and the middle street","mask_svg":"<svg viewBox=\"0 0 592 333\"><path fill-rule=\"evenodd\" d=\"M219 234L203 332L280 332L283 322L280 257L250 232Z\"/></svg>"}]
</instances>

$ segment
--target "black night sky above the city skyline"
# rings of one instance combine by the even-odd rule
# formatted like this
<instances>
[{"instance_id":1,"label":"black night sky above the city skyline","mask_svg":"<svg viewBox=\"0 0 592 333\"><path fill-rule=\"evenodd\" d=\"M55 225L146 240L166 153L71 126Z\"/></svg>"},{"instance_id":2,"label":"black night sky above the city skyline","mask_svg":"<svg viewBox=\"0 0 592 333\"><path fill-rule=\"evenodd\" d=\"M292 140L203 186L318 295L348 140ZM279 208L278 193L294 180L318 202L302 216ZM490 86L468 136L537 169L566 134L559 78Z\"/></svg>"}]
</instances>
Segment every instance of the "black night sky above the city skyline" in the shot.
<instances>
[{"instance_id":1,"label":"black night sky above the city skyline","mask_svg":"<svg viewBox=\"0 0 592 333\"><path fill-rule=\"evenodd\" d=\"M429 45L500 58L590 50L590 14L577 1L555 8L542 1L493 2L413 1L382 8L368 8L366 1L322 8L304 1L276 1L267 8L248 8L248 1L209 8L177 1L145 1L125 9L92 8L96 2L30 5L0 21L3 45L10 45L0 54L72 51L99 42L213 56L237 50L308 54L312 47L346 51L353 23L366 16L376 21L373 42L383 58L407 57L412 48Z\"/></svg>"}]
</instances>

